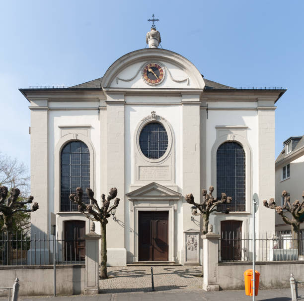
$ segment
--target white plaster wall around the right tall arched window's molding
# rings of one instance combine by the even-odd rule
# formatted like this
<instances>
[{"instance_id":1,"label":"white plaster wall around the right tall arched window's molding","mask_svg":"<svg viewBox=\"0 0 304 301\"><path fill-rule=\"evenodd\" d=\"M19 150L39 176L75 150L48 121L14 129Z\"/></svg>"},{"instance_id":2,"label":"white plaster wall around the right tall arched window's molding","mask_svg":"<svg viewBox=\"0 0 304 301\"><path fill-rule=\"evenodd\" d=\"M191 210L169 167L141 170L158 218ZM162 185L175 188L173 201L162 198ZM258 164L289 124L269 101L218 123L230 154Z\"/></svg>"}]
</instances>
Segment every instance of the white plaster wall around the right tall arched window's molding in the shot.
<instances>
[{"instance_id":1,"label":"white plaster wall around the right tall arched window's molding","mask_svg":"<svg viewBox=\"0 0 304 301\"><path fill-rule=\"evenodd\" d=\"M216 103L211 103L208 107L215 107ZM223 104L221 104L223 107ZM226 103L225 107L231 107L229 103ZM212 183L211 179L211 150L216 141L216 125L246 125L247 128L247 140L252 150L252 187L251 192L258 192L258 117L257 111L252 110L209 110L208 119L206 121L206 182L207 189ZM247 188L247 187L246 187ZM252 194L251 193L251 194ZM250 209L250 208L248 208ZM251 211L251 210L250 210ZM220 218L217 215L211 215L210 221L215 226L215 231L220 231ZM248 228L244 225L243 228L247 228L247 231L251 232L252 219L249 214L244 213L232 213L227 215L227 219L243 220L248 222ZM244 230L244 229L243 229Z\"/></svg>"}]
</instances>

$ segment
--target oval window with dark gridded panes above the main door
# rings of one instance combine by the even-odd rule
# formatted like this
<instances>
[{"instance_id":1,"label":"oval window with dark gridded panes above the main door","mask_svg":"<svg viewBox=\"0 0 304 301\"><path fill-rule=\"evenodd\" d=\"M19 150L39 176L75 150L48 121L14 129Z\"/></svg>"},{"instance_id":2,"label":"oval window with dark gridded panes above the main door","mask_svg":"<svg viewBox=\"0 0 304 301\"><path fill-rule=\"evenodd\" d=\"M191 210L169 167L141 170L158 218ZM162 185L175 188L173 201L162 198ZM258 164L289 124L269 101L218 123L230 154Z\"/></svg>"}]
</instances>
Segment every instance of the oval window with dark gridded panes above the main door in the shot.
<instances>
[{"instance_id":1,"label":"oval window with dark gridded panes above the main door","mask_svg":"<svg viewBox=\"0 0 304 301\"><path fill-rule=\"evenodd\" d=\"M148 123L140 133L139 144L147 158L163 156L168 147L168 135L163 125L159 122Z\"/></svg>"}]
</instances>

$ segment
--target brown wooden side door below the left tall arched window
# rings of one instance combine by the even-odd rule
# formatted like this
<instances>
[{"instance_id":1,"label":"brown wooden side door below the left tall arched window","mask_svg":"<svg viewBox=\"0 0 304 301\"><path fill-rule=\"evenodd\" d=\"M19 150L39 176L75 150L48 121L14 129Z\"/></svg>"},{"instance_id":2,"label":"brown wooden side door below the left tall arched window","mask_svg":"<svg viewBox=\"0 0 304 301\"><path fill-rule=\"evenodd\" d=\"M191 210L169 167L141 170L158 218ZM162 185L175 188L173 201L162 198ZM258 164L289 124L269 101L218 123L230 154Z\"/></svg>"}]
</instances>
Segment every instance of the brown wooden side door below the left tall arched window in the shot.
<instances>
[{"instance_id":1,"label":"brown wooden side door below the left tall arched window","mask_svg":"<svg viewBox=\"0 0 304 301\"><path fill-rule=\"evenodd\" d=\"M65 222L64 257L67 261L85 260L85 222Z\"/></svg>"}]
</instances>

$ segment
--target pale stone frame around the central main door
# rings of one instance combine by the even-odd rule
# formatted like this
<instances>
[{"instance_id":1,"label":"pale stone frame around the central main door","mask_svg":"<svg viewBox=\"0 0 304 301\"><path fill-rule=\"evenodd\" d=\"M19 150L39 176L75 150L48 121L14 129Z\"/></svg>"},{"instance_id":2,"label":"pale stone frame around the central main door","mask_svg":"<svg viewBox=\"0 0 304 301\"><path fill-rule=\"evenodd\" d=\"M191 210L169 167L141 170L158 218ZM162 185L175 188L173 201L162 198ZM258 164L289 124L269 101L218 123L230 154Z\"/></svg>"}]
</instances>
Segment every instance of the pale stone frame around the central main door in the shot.
<instances>
[{"instance_id":1,"label":"pale stone frame around the central main door","mask_svg":"<svg viewBox=\"0 0 304 301\"><path fill-rule=\"evenodd\" d=\"M131 219L131 229L133 228L133 244L134 251L133 251L133 261L139 262L139 211L168 211L168 260L174 260L174 205L163 204L160 203L157 207L156 206L142 206L142 205L134 205L134 217ZM133 223L132 223L133 222ZM132 225L133 224L133 225ZM133 227L132 227L133 226ZM131 235L132 241L132 235Z\"/></svg>"}]
</instances>

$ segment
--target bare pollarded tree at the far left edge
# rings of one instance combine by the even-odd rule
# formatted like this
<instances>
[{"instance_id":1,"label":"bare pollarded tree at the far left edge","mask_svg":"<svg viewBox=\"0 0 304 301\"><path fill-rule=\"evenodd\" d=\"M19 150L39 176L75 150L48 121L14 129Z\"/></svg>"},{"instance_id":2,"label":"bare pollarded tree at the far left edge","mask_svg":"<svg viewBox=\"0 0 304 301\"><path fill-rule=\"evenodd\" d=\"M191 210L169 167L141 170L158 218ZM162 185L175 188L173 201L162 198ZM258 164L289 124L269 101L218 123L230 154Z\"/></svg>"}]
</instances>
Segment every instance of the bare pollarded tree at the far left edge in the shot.
<instances>
[{"instance_id":1,"label":"bare pollarded tree at the far left edge","mask_svg":"<svg viewBox=\"0 0 304 301\"><path fill-rule=\"evenodd\" d=\"M28 208L28 204L33 202L34 197L29 196L26 201L20 201L19 199L20 190L18 188L12 188L8 195L8 189L6 186L0 186L0 216L3 218L3 226L1 230L4 232L6 242L8 246L4 246L4 258L3 262L9 264L10 258L7 256L7 250L11 249L11 238L12 238L12 227L13 227L13 216L20 212L33 212L36 211L39 206L38 203L33 203L32 208Z\"/></svg>"}]
</instances>

